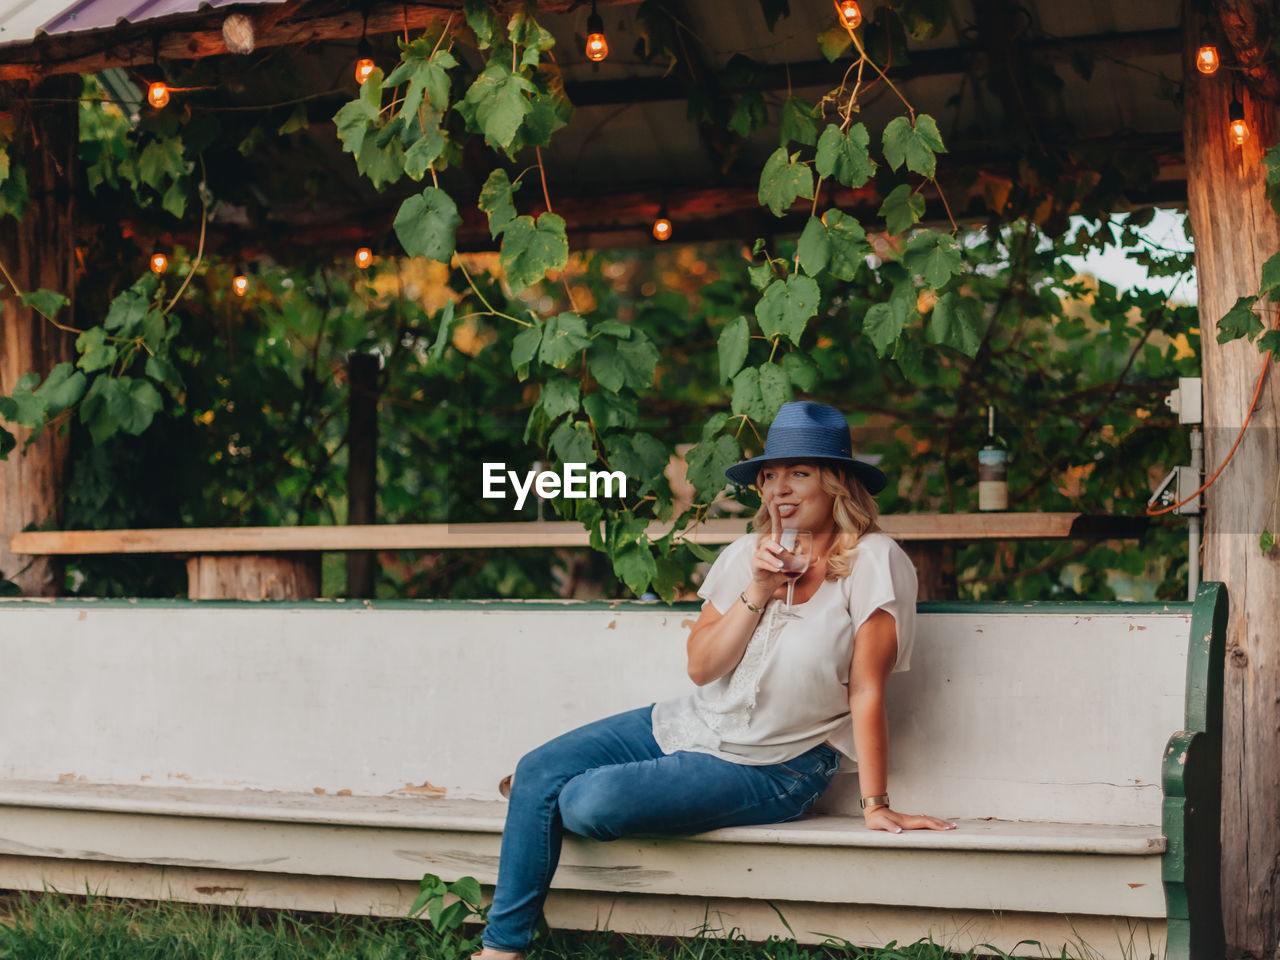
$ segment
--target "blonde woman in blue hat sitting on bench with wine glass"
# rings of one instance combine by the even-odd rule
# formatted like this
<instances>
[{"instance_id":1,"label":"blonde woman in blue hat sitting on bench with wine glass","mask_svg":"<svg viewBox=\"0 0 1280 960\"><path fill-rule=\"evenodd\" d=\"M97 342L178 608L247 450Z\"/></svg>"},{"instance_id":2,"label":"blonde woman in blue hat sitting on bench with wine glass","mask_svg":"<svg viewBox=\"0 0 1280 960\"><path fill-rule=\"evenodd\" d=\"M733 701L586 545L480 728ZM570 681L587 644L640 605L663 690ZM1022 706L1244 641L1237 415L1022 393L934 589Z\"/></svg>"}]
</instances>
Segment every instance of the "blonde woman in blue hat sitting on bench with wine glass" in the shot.
<instances>
[{"instance_id":1,"label":"blonde woman in blue hat sitting on bench with wine glass","mask_svg":"<svg viewBox=\"0 0 1280 960\"><path fill-rule=\"evenodd\" d=\"M876 467L855 461L844 415L786 403L764 453L727 475L755 483L756 532L716 559L689 634L687 696L589 723L516 767L498 886L476 960L511 960L534 938L563 831L594 840L689 835L801 817L841 755L858 758L870 829L951 829L897 813L887 795L884 680L915 639L915 570L879 532ZM778 531L813 532L794 616L780 609Z\"/></svg>"}]
</instances>

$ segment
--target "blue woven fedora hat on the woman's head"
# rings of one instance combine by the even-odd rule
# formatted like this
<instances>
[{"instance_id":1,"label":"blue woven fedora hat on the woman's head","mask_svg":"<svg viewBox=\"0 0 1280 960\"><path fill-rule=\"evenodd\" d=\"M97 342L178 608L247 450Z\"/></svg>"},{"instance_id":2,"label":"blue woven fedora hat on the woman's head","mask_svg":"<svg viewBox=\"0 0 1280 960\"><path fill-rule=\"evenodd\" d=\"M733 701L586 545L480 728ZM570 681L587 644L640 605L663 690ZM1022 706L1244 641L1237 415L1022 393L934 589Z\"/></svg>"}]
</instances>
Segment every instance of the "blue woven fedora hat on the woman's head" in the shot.
<instances>
[{"instance_id":1,"label":"blue woven fedora hat on the woman's head","mask_svg":"<svg viewBox=\"0 0 1280 960\"><path fill-rule=\"evenodd\" d=\"M845 467L863 486L877 494L888 485L888 477L870 463L854 460L845 415L826 403L792 401L783 403L769 426L764 453L735 463L724 475L735 484L750 486L760 467L776 460L808 460L815 463Z\"/></svg>"}]
</instances>

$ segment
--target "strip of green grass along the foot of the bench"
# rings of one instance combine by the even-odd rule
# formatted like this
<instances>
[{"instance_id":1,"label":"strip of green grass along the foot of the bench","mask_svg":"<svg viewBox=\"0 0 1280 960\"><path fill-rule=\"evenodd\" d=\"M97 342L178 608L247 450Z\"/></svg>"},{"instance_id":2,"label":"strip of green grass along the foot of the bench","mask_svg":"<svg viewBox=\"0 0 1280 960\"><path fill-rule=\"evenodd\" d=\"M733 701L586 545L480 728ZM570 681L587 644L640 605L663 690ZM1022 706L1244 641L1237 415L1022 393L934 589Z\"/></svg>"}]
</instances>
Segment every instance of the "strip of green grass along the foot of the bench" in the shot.
<instances>
[{"instance_id":1,"label":"strip of green grass along the foot of the bench","mask_svg":"<svg viewBox=\"0 0 1280 960\"><path fill-rule=\"evenodd\" d=\"M477 931L436 934L421 920L305 914L63 893L0 895L0 960L465 960ZM1039 945L1034 945L1038 947ZM1006 957L1004 954L998 956ZM675 940L556 932L530 960L972 960L920 941L820 946L735 931ZM1065 951L1037 956L1069 957ZM1085 955L1087 956L1087 955Z\"/></svg>"}]
</instances>

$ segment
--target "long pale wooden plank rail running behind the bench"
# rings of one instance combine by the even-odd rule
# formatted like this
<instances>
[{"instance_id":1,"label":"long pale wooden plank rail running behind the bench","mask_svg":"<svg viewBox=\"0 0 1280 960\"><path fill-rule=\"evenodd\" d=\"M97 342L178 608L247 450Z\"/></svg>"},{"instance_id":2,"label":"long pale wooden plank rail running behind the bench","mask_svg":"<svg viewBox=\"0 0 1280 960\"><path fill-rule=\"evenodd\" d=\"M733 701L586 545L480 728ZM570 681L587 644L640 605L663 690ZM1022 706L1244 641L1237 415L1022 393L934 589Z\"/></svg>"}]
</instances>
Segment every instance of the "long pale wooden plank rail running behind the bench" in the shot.
<instances>
[{"instance_id":1,"label":"long pale wooden plank rail running behind the bench","mask_svg":"<svg viewBox=\"0 0 1280 960\"><path fill-rule=\"evenodd\" d=\"M1137 524L1134 521L1138 521ZM901 513L881 517L897 540L1066 540L1138 536L1144 517L1084 513ZM652 536L669 527L653 524ZM745 518L709 520L689 532L701 544L732 543ZM571 521L517 524L381 524L372 526L246 526L169 530L27 531L9 538L13 553L275 553L306 550L447 550L525 547L588 547L588 531Z\"/></svg>"}]
</instances>

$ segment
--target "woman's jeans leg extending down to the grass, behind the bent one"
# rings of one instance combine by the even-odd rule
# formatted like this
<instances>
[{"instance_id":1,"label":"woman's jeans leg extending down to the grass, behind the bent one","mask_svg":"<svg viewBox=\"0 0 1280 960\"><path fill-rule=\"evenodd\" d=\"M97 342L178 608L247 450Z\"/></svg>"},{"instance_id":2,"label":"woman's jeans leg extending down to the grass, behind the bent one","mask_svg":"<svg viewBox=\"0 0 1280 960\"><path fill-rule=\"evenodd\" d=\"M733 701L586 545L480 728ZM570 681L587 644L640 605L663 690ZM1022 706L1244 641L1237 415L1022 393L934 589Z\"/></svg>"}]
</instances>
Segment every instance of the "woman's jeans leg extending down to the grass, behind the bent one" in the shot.
<instances>
[{"instance_id":1,"label":"woman's jeans leg extending down to the grass, behind the bent one","mask_svg":"<svg viewBox=\"0 0 1280 960\"><path fill-rule=\"evenodd\" d=\"M579 727L520 760L502 831L498 884L483 936L486 947L521 951L534 938L559 863L561 788L585 771L657 756L662 756L662 748L653 739L650 704Z\"/></svg>"}]
</instances>

